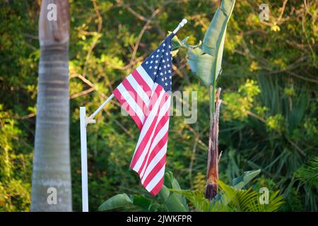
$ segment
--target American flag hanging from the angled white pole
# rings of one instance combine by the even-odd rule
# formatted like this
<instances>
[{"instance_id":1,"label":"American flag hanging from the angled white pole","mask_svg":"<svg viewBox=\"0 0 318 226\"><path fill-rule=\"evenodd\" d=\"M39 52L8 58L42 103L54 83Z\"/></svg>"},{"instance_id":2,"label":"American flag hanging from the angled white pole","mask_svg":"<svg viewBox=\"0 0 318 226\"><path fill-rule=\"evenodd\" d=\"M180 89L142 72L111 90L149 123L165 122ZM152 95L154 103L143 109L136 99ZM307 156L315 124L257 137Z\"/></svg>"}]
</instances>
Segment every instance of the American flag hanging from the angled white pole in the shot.
<instances>
[{"instance_id":1,"label":"American flag hanging from the angled white pole","mask_svg":"<svg viewBox=\"0 0 318 226\"><path fill-rule=\"evenodd\" d=\"M153 196L163 186L165 174L174 35L169 35L113 92L140 130L130 167Z\"/></svg>"}]
</instances>

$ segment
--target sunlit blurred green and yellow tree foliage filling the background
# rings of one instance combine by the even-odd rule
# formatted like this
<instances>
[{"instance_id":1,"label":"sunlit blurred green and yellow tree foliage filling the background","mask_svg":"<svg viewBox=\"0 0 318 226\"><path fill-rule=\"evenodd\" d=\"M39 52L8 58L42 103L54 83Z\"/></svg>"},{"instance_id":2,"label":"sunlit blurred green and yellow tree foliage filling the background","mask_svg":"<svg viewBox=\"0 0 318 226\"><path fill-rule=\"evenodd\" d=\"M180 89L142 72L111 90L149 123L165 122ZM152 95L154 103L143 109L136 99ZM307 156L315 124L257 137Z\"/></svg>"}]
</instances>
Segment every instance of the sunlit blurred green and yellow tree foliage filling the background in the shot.
<instances>
[{"instance_id":1,"label":"sunlit blurred green and yellow tree foliage filling the background","mask_svg":"<svg viewBox=\"0 0 318 226\"><path fill-rule=\"evenodd\" d=\"M70 0L69 79L73 210L81 210L79 107L93 112L175 29L190 44L203 40L219 1ZM40 0L0 0L0 210L30 210L35 134ZM261 169L252 183L280 190L280 210L317 211L317 1L237 1L223 54L220 179ZM204 190L208 150L208 90L193 76L182 49L172 90L198 91L198 121L170 117L167 169L184 189ZM137 127L116 100L88 127L90 210L118 193L144 192L129 170ZM316 161L317 163L317 161ZM311 163L310 163L311 164ZM306 180L307 177L316 178ZM309 176L308 176L309 175ZM305 178L305 179L304 179Z\"/></svg>"}]
</instances>

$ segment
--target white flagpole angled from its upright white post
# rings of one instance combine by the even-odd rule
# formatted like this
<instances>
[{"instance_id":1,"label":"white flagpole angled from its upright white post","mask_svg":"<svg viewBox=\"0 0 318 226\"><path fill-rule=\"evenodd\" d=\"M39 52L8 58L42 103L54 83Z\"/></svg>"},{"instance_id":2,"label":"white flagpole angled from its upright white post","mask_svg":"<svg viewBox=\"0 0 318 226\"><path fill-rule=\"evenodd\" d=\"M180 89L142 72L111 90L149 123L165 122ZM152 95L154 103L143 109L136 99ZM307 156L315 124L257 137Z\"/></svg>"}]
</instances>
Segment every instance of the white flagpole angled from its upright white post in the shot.
<instances>
[{"instance_id":1,"label":"white flagpole angled from its upright white post","mask_svg":"<svg viewBox=\"0 0 318 226\"><path fill-rule=\"evenodd\" d=\"M175 28L173 33L177 31L187 23L186 19L183 19L181 23ZM96 121L94 117L98 112L100 112L105 105L107 105L110 100L112 100L114 94L105 100L105 102L95 110L93 114L90 114L89 117L86 117L86 107L80 107L80 124L81 124L81 174L82 174L82 211L88 212L88 169L87 169L87 135L86 135L86 126L88 124L94 124Z\"/></svg>"}]
</instances>

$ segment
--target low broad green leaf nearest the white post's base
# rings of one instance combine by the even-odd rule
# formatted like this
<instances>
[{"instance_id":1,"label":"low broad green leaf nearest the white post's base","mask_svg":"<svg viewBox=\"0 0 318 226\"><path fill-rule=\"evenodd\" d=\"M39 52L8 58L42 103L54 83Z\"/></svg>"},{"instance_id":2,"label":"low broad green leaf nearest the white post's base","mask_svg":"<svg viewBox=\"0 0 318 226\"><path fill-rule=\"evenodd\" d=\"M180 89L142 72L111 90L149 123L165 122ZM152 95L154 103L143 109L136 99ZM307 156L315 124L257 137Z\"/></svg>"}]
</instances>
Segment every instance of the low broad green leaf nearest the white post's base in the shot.
<instances>
[{"instance_id":1,"label":"low broad green leaf nearest the white post's base","mask_svg":"<svg viewBox=\"0 0 318 226\"><path fill-rule=\"evenodd\" d=\"M104 203L102 203L102 205L98 207L98 211L114 210L129 206L134 206L131 199L126 194L118 194L116 196L112 196L112 198L108 198Z\"/></svg>"}]
</instances>

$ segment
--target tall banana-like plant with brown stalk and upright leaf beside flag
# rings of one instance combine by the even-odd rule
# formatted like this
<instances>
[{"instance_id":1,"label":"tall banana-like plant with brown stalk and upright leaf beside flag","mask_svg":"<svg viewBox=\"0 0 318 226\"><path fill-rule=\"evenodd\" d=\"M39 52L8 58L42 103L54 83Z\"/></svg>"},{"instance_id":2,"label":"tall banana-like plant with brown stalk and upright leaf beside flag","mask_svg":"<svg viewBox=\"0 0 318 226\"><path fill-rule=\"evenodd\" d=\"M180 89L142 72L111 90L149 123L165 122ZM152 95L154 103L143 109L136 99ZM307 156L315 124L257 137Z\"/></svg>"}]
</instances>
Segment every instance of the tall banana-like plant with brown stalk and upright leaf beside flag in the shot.
<instances>
[{"instance_id":1,"label":"tall banana-like plant with brown stalk and upright leaf beside flag","mask_svg":"<svg viewBox=\"0 0 318 226\"><path fill-rule=\"evenodd\" d=\"M216 92L216 81L222 73L222 58L226 28L235 5L235 0L223 0L211 20L203 42L196 46L175 38L175 54L179 47L187 48L187 62L192 72L208 87L210 102L210 134L208 141L208 167L206 172L206 198L218 194L218 115L220 88ZM173 41L173 40L172 40ZM172 42L173 46L173 42Z\"/></svg>"}]
</instances>

